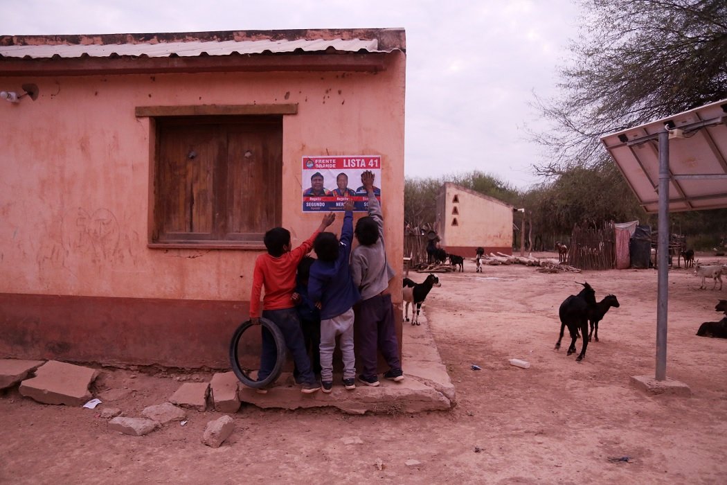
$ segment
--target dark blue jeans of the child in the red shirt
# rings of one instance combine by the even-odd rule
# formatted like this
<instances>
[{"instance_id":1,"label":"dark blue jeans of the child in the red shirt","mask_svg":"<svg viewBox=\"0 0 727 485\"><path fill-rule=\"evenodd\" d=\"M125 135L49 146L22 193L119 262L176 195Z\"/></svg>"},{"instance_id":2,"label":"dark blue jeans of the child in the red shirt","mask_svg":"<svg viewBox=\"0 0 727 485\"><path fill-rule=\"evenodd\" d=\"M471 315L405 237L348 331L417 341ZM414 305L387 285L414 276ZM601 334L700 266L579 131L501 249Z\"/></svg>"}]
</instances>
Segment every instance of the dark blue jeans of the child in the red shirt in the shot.
<instances>
[{"instance_id":1,"label":"dark blue jeans of the child in the red shirt","mask_svg":"<svg viewBox=\"0 0 727 485\"><path fill-rule=\"evenodd\" d=\"M285 346L293 355L295 367L300 372L300 382L316 383L316 376L310 370L310 359L305 351L305 340L300 330L295 308L284 310L262 310L262 317L268 318L278 326L283 337ZM275 337L264 326L262 328L262 350L260 352L260 370L257 372L257 380L263 380L270 375L278 359L278 351L275 345Z\"/></svg>"}]
</instances>

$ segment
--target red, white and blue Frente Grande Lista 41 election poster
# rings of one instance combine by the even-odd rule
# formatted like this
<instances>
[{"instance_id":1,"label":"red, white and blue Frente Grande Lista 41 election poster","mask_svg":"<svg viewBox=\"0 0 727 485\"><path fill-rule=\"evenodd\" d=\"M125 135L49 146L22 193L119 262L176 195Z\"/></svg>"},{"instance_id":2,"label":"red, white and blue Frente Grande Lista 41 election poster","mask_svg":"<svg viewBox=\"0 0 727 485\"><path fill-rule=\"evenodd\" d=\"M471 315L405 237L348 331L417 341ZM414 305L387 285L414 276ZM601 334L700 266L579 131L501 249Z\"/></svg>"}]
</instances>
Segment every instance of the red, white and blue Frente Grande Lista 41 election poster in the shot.
<instances>
[{"instance_id":1,"label":"red, white and blue Frente Grande Lista 41 election poster","mask_svg":"<svg viewBox=\"0 0 727 485\"><path fill-rule=\"evenodd\" d=\"M361 184L361 174L374 173L374 195L381 202L381 156L304 156L302 166L303 212L343 210L353 199L354 211L369 210L369 195Z\"/></svg>"}]
</instances>

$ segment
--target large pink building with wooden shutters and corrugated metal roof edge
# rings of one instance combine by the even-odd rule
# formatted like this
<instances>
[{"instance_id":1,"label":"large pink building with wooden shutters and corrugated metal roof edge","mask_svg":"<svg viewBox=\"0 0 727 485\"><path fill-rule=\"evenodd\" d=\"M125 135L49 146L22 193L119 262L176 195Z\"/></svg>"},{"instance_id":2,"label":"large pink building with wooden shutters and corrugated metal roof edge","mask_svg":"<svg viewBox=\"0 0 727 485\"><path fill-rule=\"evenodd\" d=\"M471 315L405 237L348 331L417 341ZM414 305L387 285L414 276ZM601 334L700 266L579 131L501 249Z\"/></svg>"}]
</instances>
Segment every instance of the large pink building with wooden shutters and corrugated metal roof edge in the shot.
<instances>
[{"instance_id":1,"label":"large pink building with wooden shutters and corrugated metal roof edge","mask_svg":"<svg viewBox=\"0 0 727 485\"><path fill-rule=\"evenodd\" d=\"M378 164L401 262L405 73L403 29L0 36L0 358L228 369L310 159Z\"/></svg>"}]
</instances>

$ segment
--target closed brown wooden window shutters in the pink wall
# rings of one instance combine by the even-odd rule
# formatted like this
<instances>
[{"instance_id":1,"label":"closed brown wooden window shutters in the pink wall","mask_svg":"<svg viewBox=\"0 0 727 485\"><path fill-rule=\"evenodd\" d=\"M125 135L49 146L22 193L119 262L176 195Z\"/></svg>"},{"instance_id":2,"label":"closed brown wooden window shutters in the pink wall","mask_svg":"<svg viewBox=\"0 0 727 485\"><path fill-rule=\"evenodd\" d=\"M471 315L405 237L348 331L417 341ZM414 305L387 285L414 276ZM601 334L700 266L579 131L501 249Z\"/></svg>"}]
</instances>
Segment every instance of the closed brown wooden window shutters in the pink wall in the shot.
<instances>
[{"instance_id":1,"label":"closed brown wooden window shutters in the pink wall","mask_svg":"<svg viewBox=\"0 0 727 485\"><path fill-rule=\"evenodd\" d=\"M156 119L152 242L261 242L281 222L282 116Z\"/></svg>"}]
</instances>

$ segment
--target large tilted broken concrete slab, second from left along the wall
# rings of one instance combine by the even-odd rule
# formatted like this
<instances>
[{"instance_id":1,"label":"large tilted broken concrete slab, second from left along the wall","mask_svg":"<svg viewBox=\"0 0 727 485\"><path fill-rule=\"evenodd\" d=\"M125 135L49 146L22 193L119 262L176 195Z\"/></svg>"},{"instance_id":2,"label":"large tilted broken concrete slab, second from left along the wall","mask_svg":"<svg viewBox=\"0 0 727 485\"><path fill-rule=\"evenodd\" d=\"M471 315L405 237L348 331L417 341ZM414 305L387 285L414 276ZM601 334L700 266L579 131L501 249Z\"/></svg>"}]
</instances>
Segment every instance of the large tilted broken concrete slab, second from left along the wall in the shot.
<instances>
[{"instance_id":1,"label":"large tilted broken concrete slab, second from left along the wall","mask_svg":"<svg viewBox=\"0 0 727 485\"><path fill-rule=\"evenodd\" d=\"M84 366L47 361L36 377L20 382L20 394L44 404L82 406L93 396L89 386L100 371Z\"/></svg>"}]
</instances>

